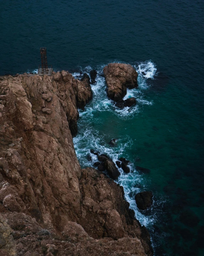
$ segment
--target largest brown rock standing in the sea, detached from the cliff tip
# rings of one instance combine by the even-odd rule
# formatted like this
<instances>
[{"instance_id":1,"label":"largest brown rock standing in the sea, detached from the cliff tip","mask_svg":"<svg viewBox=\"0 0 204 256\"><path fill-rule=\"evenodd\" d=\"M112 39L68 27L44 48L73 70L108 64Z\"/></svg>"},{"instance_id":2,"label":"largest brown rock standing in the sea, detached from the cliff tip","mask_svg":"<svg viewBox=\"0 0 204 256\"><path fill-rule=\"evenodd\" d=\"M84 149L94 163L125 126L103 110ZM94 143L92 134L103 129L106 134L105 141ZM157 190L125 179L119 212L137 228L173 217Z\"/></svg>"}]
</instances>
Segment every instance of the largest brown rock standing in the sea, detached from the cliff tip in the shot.
<instances>
[{"instance_id":1,"label":"largest brown rock standing in the sea, detached from the cliff tip","mask_svg":"<svg viewBox=\"0 0 204 256\"><path fill-rule=\"evenodd\" d=\"M135 69L124 63L110 63L103 68L107 83L107 95L114 101L121 100L127 93L127 88L138 87L138 74Z\"/></svg>"}]
</instances>

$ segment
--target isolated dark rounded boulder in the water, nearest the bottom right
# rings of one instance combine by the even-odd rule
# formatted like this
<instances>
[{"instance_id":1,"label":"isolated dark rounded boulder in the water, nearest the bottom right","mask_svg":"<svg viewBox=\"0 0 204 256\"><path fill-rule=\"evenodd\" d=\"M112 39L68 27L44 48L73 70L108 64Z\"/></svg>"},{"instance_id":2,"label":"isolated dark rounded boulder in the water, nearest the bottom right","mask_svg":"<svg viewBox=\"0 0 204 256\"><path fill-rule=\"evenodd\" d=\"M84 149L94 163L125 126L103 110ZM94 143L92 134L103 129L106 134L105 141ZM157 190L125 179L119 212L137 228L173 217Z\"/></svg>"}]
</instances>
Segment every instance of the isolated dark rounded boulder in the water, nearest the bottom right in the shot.
<instances>
[{"instance_id":1,"label":"isolated dark rounded boulder in the water, nearest the bottom right","mask_svg":"<svg viewBox=\"0 0 204 256\"><path fill-rule=\"evenodd\" d=\"M143 191L135 195L135 201L137 208L140 210L146 210L152 205L152 191Z\"/></svg>"}]
</instances>

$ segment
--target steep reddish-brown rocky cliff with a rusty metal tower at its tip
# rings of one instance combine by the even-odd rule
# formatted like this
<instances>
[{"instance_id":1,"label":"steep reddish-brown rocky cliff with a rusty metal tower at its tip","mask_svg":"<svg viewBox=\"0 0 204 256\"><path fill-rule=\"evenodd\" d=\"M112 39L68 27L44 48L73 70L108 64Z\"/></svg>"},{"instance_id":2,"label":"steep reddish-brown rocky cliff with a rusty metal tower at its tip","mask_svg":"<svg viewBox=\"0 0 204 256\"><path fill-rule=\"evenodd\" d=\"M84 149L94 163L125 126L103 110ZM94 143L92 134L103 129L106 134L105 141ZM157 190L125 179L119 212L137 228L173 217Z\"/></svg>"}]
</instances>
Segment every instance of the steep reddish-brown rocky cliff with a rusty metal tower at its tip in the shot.
<instances>
[{"instance_id":1,"label":"steep reddish-brown rocky cliff with a rusty metal tower at its tip","mask_svg":"<svg viewBox=\"0 0 204 256\"><path fill-rule=\"evenodd\" d=\"M76 158L77 108L91 97L65 71L0 77L1 253L153 255L123 188Z\"/></svg>"}]
</instances>

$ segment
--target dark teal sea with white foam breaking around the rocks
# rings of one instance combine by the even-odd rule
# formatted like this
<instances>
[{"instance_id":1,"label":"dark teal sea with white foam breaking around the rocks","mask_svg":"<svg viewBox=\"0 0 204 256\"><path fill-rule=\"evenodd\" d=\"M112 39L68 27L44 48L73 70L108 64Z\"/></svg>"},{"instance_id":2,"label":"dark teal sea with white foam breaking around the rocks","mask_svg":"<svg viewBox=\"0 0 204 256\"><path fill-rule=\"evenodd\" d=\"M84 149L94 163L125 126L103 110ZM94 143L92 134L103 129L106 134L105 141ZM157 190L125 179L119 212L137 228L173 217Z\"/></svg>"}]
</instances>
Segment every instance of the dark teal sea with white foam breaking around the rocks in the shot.
<instances>
[{"instance_id":1,"label":"dark teal sea with white foam breaking around the rocks","mask_svg":"<svg viewBox=\"0 0 204 256\"><path fill-rule=\"evenodd\" d=\"M203 256L204 3L190 0L0 1L0 74L34 72L40 47L55 71L98 71L93 100L80 110L73 139L82 167L90 149L130 161L125 196L152 237L156 256ZM137 105L119 110L107 98L103 67L131 64ZM144 76L142 72L146 72ZM117 146L108 142L116 138ZM136 166L149 168L141 174ZM152 190L139 211L134 195Z\"/></svg>"}]
</instances>

